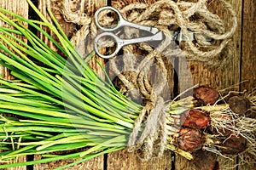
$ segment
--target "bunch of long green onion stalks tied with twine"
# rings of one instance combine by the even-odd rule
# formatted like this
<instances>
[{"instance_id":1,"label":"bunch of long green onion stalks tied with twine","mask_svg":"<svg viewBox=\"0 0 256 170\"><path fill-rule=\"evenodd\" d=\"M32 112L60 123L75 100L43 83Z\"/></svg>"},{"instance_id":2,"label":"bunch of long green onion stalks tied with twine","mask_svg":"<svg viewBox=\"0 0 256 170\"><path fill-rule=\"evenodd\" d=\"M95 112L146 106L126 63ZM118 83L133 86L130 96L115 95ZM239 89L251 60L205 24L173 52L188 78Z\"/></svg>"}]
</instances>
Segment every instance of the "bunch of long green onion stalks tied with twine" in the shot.
<instances>
[{"instance_id":1,"label":"bunch of long green onion stalks tied with twine","mask_svg":"<svg viewBox=\"0 0 256 170\"><path fill-rule=\"evenodd\" d=\"M124 149L143 105L119 93L107 73L106 80L103 80L92 71L88 61L94 52L83 59L50 9L48 12L54 26L30 0L27 2L40 21L28 20L0 8L0 20L9 25L9 28L0 27L0 64L16 77L15 80L0 79L0 150L3 150L0 158L8 161L36 154L44 158L3 164L0 168L80 158L59 167L62 169ZM49 48L27 25L47 37L61 53ZM42 26L49 28L56 38ZM172 115L182 114L192 107L195 107L195 99L191 98L169 103L166 119L170 129L175 122ZM213 108L204 107L211 111ZM220 106L221 109L214 107L214 111L224 110L223 107L229 108L224 105ZM170 134L166 148L192 159L190 150L177 147L175 143L178 141L175 142ZM214 144L210 139L206 141ZM75 151L66 155L53 154L65 150Z\"/></svg>"}]
</instances>

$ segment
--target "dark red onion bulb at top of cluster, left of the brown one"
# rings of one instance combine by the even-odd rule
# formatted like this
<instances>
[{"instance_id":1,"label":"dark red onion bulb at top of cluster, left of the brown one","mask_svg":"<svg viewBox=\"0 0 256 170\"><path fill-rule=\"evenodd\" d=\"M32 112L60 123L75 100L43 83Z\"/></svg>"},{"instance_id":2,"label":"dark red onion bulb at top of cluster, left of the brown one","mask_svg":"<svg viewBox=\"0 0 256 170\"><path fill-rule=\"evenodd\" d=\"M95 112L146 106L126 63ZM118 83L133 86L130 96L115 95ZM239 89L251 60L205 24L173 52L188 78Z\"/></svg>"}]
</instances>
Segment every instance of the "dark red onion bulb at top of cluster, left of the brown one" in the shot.
<instances>
[{"instance_id":1,"label":"dark red onion bulb at top of cluster, left of the brown one","mask_svg":"<svg viewBox=\"0 0 256 170\"><path fill-rule=\"evenodd\" d=\"M214 105L218 98L218 91L214 88L207 86L200 86L199 88L194 88L194 97L196 99L201 99L204 105Z\"/></svg>"}]
</instances>

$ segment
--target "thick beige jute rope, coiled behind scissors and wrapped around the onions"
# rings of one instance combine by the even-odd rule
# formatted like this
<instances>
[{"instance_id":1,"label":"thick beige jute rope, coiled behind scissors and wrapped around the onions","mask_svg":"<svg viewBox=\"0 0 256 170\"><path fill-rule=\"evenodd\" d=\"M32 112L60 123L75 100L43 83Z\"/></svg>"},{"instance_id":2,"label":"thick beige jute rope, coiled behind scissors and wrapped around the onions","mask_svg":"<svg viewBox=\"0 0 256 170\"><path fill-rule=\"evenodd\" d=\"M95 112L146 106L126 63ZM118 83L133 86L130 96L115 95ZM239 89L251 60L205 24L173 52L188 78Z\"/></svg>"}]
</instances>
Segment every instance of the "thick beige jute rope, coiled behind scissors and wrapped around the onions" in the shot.
<instances>
[{"instance_id":1,"label":"thick beige jute rope, coiled behind scissors and wrapped around the onions","mask_svg":"<svg viewBox=\"0 0 256 170\"><path fill-rule=\"evenodd\" d=\"M161 93L167 85L167 70L164 58L167 56L185 56L186 59L198 60L208 65L220 65L227 56L222 51L227 46L230 37L236 31L236 14L230 4L225 0L216 0L219 8L230 15L229 23L221 19L218 14L213 14L207 6L213 1L197 0L191 1L160 0L153 4L131 3L119 8L125 20L145 25L154 26L162 31L165 38L157 47L151 47L146 43L128 45L123 48L123 68L119 69L119 62L110 59L112 71L123 82L126 91L135 98L142 94L145 106L137 118L134 129L128 142L130 151L143 150L143 158L148 160L155 153L162 156L166 148L168 129L166 126L166 101ZM76 23L81 27L72 38L73 45L79 46L86 37L96 37L97 29L93 21L93 15L86 14L84 0L81 0L80 9L72 11L69 0L64 0L62 13L69 22ZM118 4L117 4L118 6ZM101 18L102 17L102 18ZM108 15L99 15L102 25L108 26L113 18ZM172 41L171 32L180 29L183 35L189 40L183 42L183 48L176 48ZM189 39L189 32L195 32L196 41ZM126 28L124 38L138 37L139 31ZM212 42L207 42L205 37L211 37ZM106 46L106 44L105 44ZM113 46L108 43L107 47ZM147 52L140 61L137 59L135 50L141 49ZM148 72L152 65L157 65L160 70L158 81L151 84L148 80ZM127 74L127 72L132 74ZM123 91L125 92L125 91Z\"/></svg>"}]
</instances>

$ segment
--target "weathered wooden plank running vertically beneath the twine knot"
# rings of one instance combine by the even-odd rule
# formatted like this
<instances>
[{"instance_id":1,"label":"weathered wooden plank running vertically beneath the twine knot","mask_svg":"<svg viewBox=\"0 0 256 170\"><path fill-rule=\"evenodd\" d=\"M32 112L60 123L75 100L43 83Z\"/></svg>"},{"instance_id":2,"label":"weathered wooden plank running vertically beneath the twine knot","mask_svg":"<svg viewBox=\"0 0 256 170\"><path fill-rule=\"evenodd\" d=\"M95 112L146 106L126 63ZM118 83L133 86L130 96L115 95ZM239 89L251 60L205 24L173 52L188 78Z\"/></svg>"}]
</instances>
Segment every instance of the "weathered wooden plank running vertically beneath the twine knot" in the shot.
<instances>
[{"instance_id":1,"label":"weathered wooden plank running vertically beneath the twine knot","mask_svg":"<svg viewBox=\"0 0 256 170\"><path fill-rule=\"evenodd\" d=\"M112 0L112 6L115 8L123 8L128 4L131 3L154 3L155 0ZM166 62L166 69L168 71L168 85L170 89L168 89L165 94L168 95L168 98L170 96L173 96L173 60L168 61L168 64ZM157 76L155 77L157 80ZM164 96L165 97L165 96ZM113 153L108 154L108 170L164 170L164 169L171 169L172 168L172 152L170 150L166 150L166 153L164 156L159 158L152 158L149 161L143 161L138 157L137 152L129 153L127 150L120 150Z\"/></svg>"}]
</instances>

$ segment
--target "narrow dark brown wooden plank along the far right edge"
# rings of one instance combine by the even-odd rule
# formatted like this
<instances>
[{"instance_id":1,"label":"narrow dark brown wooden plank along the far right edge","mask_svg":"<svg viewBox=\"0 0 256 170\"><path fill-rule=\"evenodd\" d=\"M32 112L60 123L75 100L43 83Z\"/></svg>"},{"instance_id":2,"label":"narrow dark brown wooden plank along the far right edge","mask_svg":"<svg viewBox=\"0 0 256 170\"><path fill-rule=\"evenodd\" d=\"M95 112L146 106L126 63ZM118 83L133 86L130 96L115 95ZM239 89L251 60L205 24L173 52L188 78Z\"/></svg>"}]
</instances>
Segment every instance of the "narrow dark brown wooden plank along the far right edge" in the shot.
<instances>
[{"instance_id":1,"label":"narrow dark brown wooden plank along the far right edge","mask_svg":"<svg viewBox=\"0 0 256 170\"><path fill-rule=\"evenodd\" d=\"M242 15L242 51L241 51L241 81L247 81L241 84L241 91L250 91L256 88L256 1L243 1ZM246 155L245 155L246 156ZM249 156L250 157L250 156ZM241 162L241 157L239 162ZM255 161L255 157L250 157ZM239 170L256 169L255 162L246 159L249 164L241 165Z\"/></svg>"}]
</instances>

